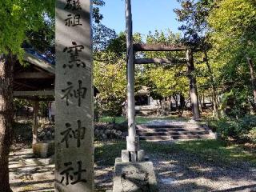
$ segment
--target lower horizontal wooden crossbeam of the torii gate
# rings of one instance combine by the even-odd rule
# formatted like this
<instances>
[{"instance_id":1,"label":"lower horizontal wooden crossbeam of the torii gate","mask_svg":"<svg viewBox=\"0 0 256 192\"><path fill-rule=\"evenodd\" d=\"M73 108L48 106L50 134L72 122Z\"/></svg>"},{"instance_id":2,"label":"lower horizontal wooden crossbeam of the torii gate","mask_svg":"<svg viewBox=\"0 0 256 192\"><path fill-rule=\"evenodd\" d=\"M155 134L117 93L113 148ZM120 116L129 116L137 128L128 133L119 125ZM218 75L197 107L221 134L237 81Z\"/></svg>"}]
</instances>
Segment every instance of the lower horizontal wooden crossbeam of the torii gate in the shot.
<instances>
[{"instance_id":1,"label":"lower horizontal wooden crossbeam of the torii gate","mask_svg":"<svg viewBox=\"0 0 256 192\"><path fill-rule=\"evenodd\" d=\"M186 63L186 58L137 58L134 61L135 64L150 64L150 63L160 63L160 64L179 64Z\"/></svg>"}]
</instances>

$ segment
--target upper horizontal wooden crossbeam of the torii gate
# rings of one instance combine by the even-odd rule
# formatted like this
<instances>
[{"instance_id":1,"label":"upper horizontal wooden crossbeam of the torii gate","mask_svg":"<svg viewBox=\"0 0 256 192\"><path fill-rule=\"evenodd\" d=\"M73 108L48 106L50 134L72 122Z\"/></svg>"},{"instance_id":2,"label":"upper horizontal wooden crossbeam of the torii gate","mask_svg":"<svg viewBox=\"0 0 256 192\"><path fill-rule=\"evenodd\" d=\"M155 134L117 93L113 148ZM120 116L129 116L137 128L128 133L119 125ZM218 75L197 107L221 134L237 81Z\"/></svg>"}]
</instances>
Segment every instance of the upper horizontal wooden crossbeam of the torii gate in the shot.
<instances>
[{"instance_id":1,"label":"upper horizontal wooden crossbeam of the torii gate","mask_svg":"<svg viewBox=\"0 0 256 192\"><path fill-rule=\"evenodd\" d=\"M182 45L134 44L134 51L182 51L189 47Z\"/></svg>"}]
</instances>

